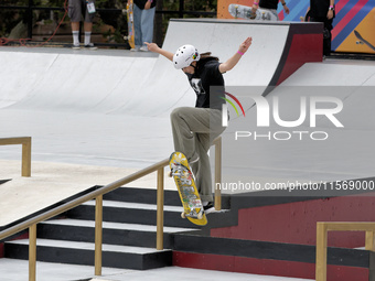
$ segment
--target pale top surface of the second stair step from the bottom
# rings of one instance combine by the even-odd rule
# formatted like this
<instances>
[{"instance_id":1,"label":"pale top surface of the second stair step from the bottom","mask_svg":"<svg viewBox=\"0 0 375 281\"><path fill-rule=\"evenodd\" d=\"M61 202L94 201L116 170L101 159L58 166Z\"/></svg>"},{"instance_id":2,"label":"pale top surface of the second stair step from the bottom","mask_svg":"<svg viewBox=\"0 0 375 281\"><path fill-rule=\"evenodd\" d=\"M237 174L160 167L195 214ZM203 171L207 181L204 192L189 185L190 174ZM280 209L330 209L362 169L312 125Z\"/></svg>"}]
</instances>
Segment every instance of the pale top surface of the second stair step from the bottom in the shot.
<instances>
[{"instance_id":1,"label":"pale top surface of the second stair step from the bottom","mask_svg":"<svg viewBox=\"0 0 375 281\"><path fill-rule=\"evenodd\" d=\"M47 220L42 224L47 225L61 225L61 226L77 226L77 227L95 227L94 220L83 220L83 219L53 219ZM140 225L140 224L126 224L126 223L108 223L103 221L103 228L105 229L119 229L119 230L139 230L139 231L150 231L156 233L157 226L152 225ZM163 227L164 233L182 233L182 231L191 231L196 230L194 228L183 228L183 227Z\"/></svg>"}]
</instances>

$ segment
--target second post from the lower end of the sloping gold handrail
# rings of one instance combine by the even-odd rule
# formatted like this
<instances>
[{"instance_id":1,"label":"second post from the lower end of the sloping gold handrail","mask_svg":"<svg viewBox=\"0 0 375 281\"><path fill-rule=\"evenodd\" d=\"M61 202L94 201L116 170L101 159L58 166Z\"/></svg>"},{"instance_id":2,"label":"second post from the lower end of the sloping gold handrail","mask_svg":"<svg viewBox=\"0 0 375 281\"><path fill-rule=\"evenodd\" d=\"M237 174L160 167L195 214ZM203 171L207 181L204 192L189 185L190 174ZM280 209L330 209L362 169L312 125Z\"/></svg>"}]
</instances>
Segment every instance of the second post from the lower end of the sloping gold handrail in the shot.
<instances>
[{"instance_id":1,"label":"second post from the lower end of the sloping gold handrail","mask_svg":"<svg viewBox=\"0 0 375 281\"><path fill-rule=\"evenodd\" d=\"M96 197L95 204L95 275L101 275L103 260L103 195Z\"/></svg>"}]
</instances>

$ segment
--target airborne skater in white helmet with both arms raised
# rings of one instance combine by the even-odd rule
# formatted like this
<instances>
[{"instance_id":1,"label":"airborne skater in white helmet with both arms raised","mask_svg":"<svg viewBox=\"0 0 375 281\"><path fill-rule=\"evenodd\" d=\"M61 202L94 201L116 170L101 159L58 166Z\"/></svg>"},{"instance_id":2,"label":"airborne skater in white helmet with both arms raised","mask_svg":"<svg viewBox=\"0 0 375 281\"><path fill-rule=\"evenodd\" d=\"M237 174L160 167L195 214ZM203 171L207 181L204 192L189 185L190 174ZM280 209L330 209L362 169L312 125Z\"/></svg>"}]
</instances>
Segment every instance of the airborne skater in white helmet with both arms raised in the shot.
<instances>
[{"instance_id":1,"label":"airborne skater in white helmet with both arms raised","mask_svg":"<svg viewBox=\"0 0 375 281\"><path fill-rule=\"evenodd\" d=\"M149 51L170 60L176 69L182 69L195 90L195 108L181 107L171 114L173 142L175 151L184 153L195 175L195 184L200 192L206 214L214 210L212 196L212 179L207 155L211 141L223 131L222 105L224 99L223 74L231 71L251 45L247 37L238 51L225 63L219 63L211 53L200 54L192 45L181 46L174 54L160 48L154 43L147 43ZM221 90L210 100L211 86ZM215 87L216 88L216 87Z\"/></svg>"}]
</instances>

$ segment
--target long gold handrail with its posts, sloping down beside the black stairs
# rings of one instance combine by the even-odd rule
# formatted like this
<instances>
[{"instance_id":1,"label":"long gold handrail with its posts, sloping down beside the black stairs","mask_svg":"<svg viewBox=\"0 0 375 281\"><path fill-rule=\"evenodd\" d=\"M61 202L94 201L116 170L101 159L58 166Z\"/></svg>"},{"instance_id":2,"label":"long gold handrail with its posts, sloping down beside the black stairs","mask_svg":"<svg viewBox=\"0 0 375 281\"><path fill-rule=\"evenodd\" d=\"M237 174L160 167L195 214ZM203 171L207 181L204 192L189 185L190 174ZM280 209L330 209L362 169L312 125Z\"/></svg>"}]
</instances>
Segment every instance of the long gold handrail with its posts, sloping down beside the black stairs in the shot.
<instances>
[{"instance_id":1,"label":"long gold handrail with its posts, sloping down beside the black stairs","mask_svg":"<svg viewBox=\"0 0 375 281\"><path fill-rule=\"evenodd\" d=\"M222 139L213 141L215 145L215 182L221 182L222 176ZM11 226L0 233L0 241L29 228L29 281L36 280L36 225L65 213L83 203L95 199L95 275L101 275L101 245L103 245L103 195L129 184L140 177L157 172L157 250L163 249L164 224L164 167L169 165L169 159L160 161L151 166L122 177L116 182L98 187L81 197L64 203L40 215L29 218L18 225ZM215 184L216 186L216 184ZM221 209L221 191L215 188L215 208Z\"/></svg>"}]
</instances>

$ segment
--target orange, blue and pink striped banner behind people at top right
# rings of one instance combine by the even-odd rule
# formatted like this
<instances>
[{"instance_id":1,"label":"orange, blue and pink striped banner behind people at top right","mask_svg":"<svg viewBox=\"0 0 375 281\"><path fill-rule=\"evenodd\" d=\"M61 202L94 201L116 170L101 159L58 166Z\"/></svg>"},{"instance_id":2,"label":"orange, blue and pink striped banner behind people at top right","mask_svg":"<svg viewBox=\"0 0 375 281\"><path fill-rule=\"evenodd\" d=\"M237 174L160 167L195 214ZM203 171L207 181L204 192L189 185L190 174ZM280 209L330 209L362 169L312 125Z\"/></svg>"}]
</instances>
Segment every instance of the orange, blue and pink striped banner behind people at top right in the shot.
<instances>
[{"instance_id":1,"label":"orange, blue and pink striped banner behind people at top right","mask_svg":"<svg viewBox=\"0 0 375 281\"><path fill-rule=\"evenodd\" d=\"M283 12L279 2L277 13L281 21L300 21L310 1L286 0L290 13ZM218 0L217 18L234 19L229 4L253 6L253 0ZM332 51L375 54L375 0L339 0L333 20Z\"/></svg>"}]
</instances>

